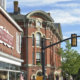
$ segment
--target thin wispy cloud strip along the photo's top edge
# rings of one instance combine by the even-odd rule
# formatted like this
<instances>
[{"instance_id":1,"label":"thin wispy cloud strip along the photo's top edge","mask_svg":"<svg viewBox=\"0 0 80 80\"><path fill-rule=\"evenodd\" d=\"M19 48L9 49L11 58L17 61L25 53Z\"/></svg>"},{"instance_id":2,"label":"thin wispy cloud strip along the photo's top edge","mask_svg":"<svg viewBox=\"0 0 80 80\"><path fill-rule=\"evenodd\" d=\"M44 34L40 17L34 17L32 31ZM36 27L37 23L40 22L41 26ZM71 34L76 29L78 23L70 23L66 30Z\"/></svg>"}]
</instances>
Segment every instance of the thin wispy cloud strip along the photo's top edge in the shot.
<instances>
[{"instance_id":1,"label":"thin wispy cloud strip along the photo's top edge","mask_svg":"<svg viewBox=\"0 0 80 80\"><path fill-rule=\"evenodd\" d=\"M14 0L9 1L8 4L11 5L12 1ZM19 1L20 5L34 7L34 6L44 6L44 5L50 5L50 4L57 3L57 2L72 1L72 0L16 0L16 1Z\"/></svg>"}]
</instances>

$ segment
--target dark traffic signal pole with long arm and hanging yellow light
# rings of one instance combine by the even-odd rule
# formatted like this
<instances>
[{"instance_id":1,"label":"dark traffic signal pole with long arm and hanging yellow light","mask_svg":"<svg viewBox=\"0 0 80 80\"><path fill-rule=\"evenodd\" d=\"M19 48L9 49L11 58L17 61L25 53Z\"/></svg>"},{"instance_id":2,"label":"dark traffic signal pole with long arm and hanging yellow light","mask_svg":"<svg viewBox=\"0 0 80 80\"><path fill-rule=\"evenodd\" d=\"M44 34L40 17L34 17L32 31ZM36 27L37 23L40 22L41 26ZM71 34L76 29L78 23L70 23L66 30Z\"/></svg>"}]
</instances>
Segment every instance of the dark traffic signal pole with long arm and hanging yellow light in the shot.
<instances>
[{"instance_id":1,"label":"dark traffic signal pole with long arm and hanging yellow light","mask_svg":"<svg viewBox=\"0 0 80 80\"><path fill-rule=\"evenodd\" d=\"M41 39L41 52L42 52L42 74L43 74L43 80L46 80L45 78L45 49L51 47L51 46L54 46L54 45L57 45L61 42L64 42L64 41L67 41L69 39L71 39L71 46L75 47L77 46L77 37L80 37L80 36L77 36L77 34L72 34L70 38L67 38L67 39L64 39L64 40L61 40L59 42L56 42L56 43L53 43L51 45L48 45L48 46L45 46L45 37L43 37Z\"/></svg>"}]
</instances>

